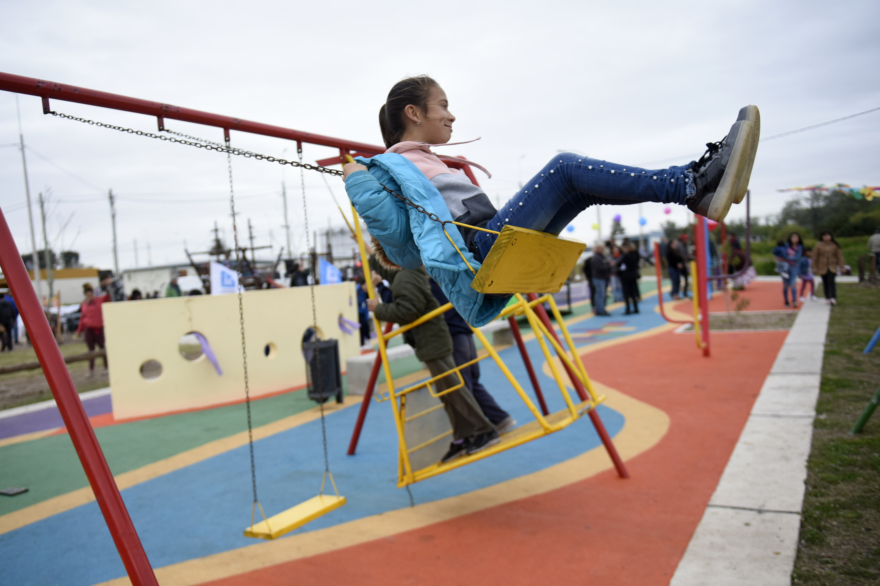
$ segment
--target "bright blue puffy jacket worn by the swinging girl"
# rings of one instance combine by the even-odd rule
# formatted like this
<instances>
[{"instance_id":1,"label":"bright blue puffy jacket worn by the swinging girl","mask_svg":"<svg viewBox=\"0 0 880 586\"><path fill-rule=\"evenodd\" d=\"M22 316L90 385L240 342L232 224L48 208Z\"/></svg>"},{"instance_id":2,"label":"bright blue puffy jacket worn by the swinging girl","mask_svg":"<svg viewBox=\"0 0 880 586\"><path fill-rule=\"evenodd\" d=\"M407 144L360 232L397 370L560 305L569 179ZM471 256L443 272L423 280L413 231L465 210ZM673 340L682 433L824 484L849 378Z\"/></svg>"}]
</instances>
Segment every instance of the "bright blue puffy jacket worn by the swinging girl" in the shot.
<instances>
[{"instance_id":1,"label":"bright blue puffy jacket worn by the swinging girl","mask_svg":"<svg viewBox=\"0 0 880 586\"><path fill-rule=\"evenodd\" d=\"M414 204L435 213L443 221L451 221L443 196L428 177L406 157L385 153L370 159L356 158L369 171L357 171L345 179L348 199L355 206L373 235L385 249L392 263L405 269L425 269L443 289L458 313L473 327L491 322L507 305L510 296L487 297L471 286L473 273L444 235L443 227L424 213L393 197L382 189L382 184L400 193ZM475 271L480 263L467 250L457 229L446 232L458 246Z\"/></svg>"}]
</instances>

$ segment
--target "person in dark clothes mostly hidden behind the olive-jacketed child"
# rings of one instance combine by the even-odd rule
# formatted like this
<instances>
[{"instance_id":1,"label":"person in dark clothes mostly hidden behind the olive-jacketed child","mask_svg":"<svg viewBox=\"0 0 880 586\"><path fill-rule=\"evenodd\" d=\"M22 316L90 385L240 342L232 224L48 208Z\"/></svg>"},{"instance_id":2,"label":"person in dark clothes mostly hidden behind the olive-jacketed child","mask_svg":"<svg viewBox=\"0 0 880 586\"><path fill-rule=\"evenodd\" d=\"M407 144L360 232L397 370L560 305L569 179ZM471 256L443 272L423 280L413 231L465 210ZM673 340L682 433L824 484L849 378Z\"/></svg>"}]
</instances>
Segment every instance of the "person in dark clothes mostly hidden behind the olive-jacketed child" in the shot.
<instances>
[{"instance_id":1,"label":"person in dark clothes mostly hidden behind the olive-jacketed child","mask_svg":"<svg viewBox=\"0 0 880 586\"><path fill-rule=\"evenodd\" d=\"M443 292L443 289L436 284L434 279L430 279L431 293L440 305L449 303L449 298ZM446 326L449 328L449 334L452 336L452 358L455 364L460 366L477 358L477 346L473 344L473 331L467 325L455 307L451 308L444 315ZM510 413L498 406L493 397L480 383L480 363L474 362L473 365L466 366L460 371L461 377L465 380L465 386L471 389L473 398L480 404L483 415L495 425L498 433L504 433L517 425L516 420Z\"/></svg>"}]
</instances>

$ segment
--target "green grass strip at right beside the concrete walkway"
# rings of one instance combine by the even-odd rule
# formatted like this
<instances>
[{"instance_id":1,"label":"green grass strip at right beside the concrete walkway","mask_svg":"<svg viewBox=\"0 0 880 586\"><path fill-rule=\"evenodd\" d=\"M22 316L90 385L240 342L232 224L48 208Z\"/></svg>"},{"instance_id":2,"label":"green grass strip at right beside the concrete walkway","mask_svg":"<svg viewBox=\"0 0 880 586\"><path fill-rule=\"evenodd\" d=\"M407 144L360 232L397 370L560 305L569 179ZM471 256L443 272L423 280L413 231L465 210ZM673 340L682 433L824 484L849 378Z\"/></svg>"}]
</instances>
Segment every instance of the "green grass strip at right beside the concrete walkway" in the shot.
<instances>
[{"instance_id":1,"label":"green grass strip at right beside the concrete walkway","mask_svg":"<svg viewBox=\"0 0 880 586\"><path fill-rule=\"evenodd\" d=\"M849 435L880 386L880 349L862 354L880 325L880 293L841 284L838 300L825 340L796 584L880 581L880 413Z\"/></svg>"}]
</instances>

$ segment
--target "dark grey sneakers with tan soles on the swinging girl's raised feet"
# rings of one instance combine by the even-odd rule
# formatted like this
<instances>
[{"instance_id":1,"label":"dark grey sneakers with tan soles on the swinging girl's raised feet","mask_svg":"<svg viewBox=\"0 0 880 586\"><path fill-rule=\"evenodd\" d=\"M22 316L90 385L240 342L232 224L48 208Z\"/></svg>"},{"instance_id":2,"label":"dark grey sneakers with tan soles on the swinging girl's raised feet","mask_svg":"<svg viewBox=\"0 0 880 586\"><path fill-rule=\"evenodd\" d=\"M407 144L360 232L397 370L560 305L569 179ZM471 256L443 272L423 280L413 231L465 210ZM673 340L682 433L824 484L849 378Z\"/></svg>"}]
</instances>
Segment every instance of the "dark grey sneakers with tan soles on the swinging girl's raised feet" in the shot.
<instances>
[{"instance_id":1,"label":"dark grey sneakers with tan soles on the swinging girl's raised feet","mask_svg":"<svg viewBox=\"0 0 880 586\"><path fill-rule=\"evenodd\" d=\"M741 115L747 116L748 112L757 113L758 108L745 106L743 111ZM692 167L696 192L685 201L693 213L714 221L724 219L737 194L744 194L749 185L759 134L752 121L741 119L721 141L706 144L706 152Z\"/></svg>"}]
</instances>

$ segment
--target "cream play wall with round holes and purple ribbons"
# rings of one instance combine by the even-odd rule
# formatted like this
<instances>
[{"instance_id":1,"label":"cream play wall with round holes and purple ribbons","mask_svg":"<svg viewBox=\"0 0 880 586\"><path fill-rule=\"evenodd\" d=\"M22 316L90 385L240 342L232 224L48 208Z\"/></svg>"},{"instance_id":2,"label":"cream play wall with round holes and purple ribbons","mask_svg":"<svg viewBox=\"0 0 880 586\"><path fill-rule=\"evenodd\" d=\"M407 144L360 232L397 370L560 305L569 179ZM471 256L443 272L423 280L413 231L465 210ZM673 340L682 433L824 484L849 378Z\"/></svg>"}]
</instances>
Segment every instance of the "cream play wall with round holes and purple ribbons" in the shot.
<instances>
[{"instance_id":1,"label":"cream play wall with round holes and purple ribbons","mask_svg":"<svg viewBox=\"0 0 880 586\"><path fill-rule=\"evenodd\" d=\"M339 327L340 315L357 322L354 283L316 286L315 304L321 337L339 340L344 369L346 360L360 353L358 332L349 335ZM243 305L251 396L302 387L306 382L302 337L312 325L309 287L248 291ZM114 419L244 400L237 295L126 301L106 303L103 308ZM189 332L207 338L223 376L204 355L190 361L180 354L180 337ZM162 366L152 380L141 373L150 360Z\"/></svg>"}]
</instances>

